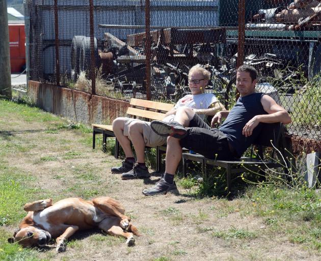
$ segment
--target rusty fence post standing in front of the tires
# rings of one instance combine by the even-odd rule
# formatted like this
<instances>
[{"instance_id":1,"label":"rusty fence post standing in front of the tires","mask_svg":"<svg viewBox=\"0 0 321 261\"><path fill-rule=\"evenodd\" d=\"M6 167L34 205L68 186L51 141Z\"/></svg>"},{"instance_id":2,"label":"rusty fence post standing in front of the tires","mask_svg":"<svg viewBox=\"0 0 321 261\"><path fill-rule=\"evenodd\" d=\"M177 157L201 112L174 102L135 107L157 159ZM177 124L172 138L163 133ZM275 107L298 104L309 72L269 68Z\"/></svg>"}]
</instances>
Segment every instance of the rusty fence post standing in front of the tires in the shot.
<instances>
[{"instance_id":1,"label":"rusty fence post standing in front of the tires","mask_svg":"<svg viewBox=\"0 0 321 261\"><path fill-rule=\"evenodd\" d=\"M90 79L91 79L91 94L96 94L96 77L95 77L95 39L94 39L94 1L89 0L89 24L90 24L90 50L91 50L91 68L90 68Z\"/></svg>"}]
</instances>

